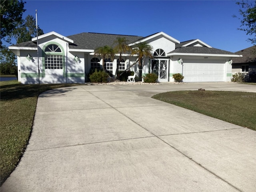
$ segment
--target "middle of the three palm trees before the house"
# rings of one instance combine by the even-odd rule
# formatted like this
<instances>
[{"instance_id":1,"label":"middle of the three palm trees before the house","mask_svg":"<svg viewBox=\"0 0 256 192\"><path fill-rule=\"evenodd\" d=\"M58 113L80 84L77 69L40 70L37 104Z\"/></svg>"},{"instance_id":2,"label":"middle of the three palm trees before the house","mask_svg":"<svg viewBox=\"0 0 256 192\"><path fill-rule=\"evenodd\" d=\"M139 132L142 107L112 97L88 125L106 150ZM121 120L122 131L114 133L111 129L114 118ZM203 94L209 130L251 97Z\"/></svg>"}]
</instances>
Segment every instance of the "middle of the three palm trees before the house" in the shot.
<instances>
[{"instance_id":1,"label":"middle of the three palm trees before the house","mask_svg":"<svg viewBox=\"0 0 256 192\"><path fill-rule=\"evenodd\" d=\"M127 45L127 42L128 40L125 37L118 37L114 41L114 44L116 44L116 46L114 47L114 52L119 53L119 61L116 66L116 74L115 74L116 78L117 78L120 62L122 61L122 53L130 52L132 50L132 48L130 48L130 46Z\"/></svg>"}]
</instances>

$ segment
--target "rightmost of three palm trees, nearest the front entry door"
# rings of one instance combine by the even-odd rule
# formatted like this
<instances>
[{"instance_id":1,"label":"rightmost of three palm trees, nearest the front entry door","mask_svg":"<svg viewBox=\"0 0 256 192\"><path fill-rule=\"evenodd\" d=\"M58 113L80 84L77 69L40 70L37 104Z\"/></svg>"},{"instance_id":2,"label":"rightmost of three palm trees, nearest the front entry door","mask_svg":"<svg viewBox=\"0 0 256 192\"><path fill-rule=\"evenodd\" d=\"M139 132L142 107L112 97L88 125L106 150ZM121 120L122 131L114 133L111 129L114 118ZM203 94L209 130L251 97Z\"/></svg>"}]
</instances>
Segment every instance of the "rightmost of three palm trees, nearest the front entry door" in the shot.
<instances>
[{"instance_id":1,"label":"rightmost of three palm trees, nearest the front entry door","mask_svg":"<svg viewBox=\"0 0 256 192\"><path fill-rule=\"evenodd\" d=\"M139 62L139 78L142 80L142 59L143 57L150 57L154 58L152 55L153 47L150 44L147 44L146 42L140 42L137 44L137 47L132 50L132 54L138 55L138 62Z\"/></svg>"}]
</instances>

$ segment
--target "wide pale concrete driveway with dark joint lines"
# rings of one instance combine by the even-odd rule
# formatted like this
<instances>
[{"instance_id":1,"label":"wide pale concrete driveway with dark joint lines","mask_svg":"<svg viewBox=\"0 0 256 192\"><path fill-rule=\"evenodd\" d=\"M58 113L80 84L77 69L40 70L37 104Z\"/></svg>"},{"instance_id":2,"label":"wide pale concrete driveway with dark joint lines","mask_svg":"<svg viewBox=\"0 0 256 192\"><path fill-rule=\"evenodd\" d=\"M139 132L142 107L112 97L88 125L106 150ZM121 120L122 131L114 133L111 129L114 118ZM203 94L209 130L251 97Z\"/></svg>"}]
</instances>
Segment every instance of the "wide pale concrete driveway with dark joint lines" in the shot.
<instances>
[{"instance_id":1,"label":"wide pale concrete driveway with dark joint lines","mask_svg":"<svg viewBox=\"0 0 256 192\"><path fill-rule=\"evenodd\" d=\"M150 98L198 88L256 92L235 83L44 92L1 192L255 192L255 131Z\"/></svg>"}]
</instances>

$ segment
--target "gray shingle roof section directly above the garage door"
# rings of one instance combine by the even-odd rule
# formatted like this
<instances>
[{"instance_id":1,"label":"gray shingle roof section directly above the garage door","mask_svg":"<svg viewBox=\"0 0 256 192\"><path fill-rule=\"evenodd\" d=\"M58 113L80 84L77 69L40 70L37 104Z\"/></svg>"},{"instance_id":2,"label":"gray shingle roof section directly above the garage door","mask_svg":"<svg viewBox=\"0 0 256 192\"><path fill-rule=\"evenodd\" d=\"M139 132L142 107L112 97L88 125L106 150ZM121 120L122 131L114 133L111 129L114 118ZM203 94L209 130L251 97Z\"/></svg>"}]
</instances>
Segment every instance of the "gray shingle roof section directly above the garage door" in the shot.
<instances>
[{"instance_id":1,"label":"gray shingle roof section directly above the garage door","mask_svg":"<svg viewBox=\"0 0 256 192\"><path fill-rule=\"evenodd\" d=\"M209 48L209 47L197 47L197 46L187 46L187 47L178 47L175 50L169 53L202 53L202 54L232 54L235 53L224 51L216 48Z\"/></svg>"}]
</instances>

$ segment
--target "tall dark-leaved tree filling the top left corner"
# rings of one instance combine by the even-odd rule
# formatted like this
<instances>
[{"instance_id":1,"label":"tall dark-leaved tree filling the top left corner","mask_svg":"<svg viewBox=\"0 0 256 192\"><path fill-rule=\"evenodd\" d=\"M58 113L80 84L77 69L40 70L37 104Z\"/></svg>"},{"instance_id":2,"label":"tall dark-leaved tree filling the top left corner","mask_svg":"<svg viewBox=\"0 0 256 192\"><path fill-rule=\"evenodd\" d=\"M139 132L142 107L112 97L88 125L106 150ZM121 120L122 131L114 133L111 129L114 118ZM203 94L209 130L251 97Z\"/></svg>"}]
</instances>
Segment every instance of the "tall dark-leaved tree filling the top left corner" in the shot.
<instances>
[{"instance_id":1,"label":"tall dark-leaved tree filling the top left corner","mask_svg":"<svg viewBox=\"0 0 256 192\"><path fill-rule=\"evenodd\" d=\"M1 23L1 45L2 38L16 28L16 22L22 20L22 14L25 12L22 0L1 0L0 2L0 23Z\"/></svg>"}]
</instances>

